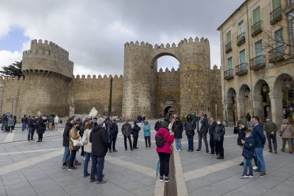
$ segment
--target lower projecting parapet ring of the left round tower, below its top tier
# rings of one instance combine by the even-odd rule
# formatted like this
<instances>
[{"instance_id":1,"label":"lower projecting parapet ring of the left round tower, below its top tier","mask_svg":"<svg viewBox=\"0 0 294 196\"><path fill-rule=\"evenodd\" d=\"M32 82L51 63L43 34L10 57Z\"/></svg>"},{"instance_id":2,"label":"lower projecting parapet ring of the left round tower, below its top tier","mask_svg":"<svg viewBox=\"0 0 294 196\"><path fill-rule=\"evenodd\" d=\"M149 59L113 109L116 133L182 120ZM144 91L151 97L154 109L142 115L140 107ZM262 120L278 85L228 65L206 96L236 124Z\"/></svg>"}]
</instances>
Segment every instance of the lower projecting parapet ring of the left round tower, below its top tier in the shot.
<instances>
[{"instance_id":1,"label":"lower projecting parapet ring of the left round tower, below its top tier","mask_svg":"<svg viewBox=\"0 0 294 196\"><path fill-rule=\"evenodd\" d=\"M69 65L74 65L74 62L71 60L68 60L68 58L65 58L64 56L58 54L58 53L53 53L50 50L42 50L42 49L33 49L33 50L25 50L23 51L23 58L50 58L53 60L58 60L59 62L65 62Z\"/></svg>"}]
</instances>

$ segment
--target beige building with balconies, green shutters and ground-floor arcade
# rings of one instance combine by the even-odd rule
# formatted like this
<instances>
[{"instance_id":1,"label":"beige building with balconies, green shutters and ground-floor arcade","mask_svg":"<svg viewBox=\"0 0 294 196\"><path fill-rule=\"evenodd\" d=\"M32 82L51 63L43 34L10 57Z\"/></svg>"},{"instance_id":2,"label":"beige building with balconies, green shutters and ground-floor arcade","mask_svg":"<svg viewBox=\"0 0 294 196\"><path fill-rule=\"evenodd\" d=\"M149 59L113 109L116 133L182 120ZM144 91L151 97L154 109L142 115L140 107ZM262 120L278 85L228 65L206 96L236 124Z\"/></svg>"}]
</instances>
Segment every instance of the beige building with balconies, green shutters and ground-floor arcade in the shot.
<instances>
[{"instance_id":1,"label":"beige building with balconies, green shutters and ground-floor arcade","mask_svg":"<svg viewBox=\"0 0 294 196\"><path fill-rule=\"evenodd\" d=\"M246 0L217 29L228 124L249 113L280 125L293 114L293 10L293 0Z\"/></svg>"}]
</instances>

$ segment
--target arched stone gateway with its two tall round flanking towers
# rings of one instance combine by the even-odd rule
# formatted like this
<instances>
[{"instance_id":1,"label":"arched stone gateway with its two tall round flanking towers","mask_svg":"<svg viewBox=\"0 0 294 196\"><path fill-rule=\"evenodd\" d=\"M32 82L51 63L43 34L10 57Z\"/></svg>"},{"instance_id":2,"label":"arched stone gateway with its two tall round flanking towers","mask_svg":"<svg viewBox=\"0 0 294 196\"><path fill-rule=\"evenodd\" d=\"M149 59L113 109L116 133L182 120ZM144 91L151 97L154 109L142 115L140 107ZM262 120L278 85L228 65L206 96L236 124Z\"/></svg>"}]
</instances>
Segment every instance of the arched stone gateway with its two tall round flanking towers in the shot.
<instances>
[{"instance_id":1,"label":"arched stone gateway with its two tall round flanking towers","mask_svg":"<svg viewBox=\"0 0 294 196\"><path fill-rule=\"evenodd\" d=\"M189 114L197 109L208 112L211 99L207 39L190 38L180 41L178 45L156 44L154 47L149 43L131 42L125 44L124 53L123 116L132 118L143 114L148 118L155 117L166 94L175 97L173 107L179 114ZM157 72L157 60L164 55L173 56L180 62L177 71L165 70L173 73L168 80L165 80L164 72ZM170 78L174 79L172 84L167 82L172 81ZM172 90L168 92L170 88ZM168 106L163 104L162 107Z\"/></svg>"}]
</instances>

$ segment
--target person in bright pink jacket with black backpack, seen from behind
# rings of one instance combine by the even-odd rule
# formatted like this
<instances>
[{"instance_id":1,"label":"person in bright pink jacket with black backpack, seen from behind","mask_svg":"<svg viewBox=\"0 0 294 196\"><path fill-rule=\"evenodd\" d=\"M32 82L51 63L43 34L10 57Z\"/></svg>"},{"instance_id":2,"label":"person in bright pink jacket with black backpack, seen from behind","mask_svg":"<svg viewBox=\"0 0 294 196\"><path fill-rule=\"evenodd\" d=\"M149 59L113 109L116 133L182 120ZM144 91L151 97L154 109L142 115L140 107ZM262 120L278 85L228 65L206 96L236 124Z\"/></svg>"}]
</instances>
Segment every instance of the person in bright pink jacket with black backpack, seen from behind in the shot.
<instances>
[{"instance_id":1,"label":"person in bright pink jacket with black backpack, seen from behind","mask_svg":"<svg viewBox=\"0 0 294 196\"><path fill-rule=\"evenodd\" d=\"M168 122L163 121L161 123L160 129L156 132L156 152L159 156L159 181L163 182L163 175L165 176L165 183L170 180L168 178L169 165L170 165L170 154L173 151L172 143L175 139L175 135L168 131Z\"/></svg>"}]
</instances>

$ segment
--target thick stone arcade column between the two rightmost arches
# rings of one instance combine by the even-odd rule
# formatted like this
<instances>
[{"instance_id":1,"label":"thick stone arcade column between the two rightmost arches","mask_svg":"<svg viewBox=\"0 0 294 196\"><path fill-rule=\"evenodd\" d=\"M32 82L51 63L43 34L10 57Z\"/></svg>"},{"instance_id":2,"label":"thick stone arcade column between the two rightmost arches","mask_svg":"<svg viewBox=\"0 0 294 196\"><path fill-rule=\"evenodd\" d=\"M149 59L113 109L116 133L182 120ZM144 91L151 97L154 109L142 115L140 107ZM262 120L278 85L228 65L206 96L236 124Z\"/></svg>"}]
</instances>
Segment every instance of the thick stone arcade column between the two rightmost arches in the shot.
<instances>
[{"instance_id":1,"label":"thick stone arcade column between the two rightmost arches","mask_svg":"<svg viewBox=\"0 0 294 196\"><path fill-rule=\"evenodd\" d=\"M271 118L280 128L283 123L283 92L269 92L268 96L271 99Z\"/></svg>"}]
</instances>

